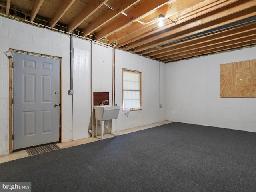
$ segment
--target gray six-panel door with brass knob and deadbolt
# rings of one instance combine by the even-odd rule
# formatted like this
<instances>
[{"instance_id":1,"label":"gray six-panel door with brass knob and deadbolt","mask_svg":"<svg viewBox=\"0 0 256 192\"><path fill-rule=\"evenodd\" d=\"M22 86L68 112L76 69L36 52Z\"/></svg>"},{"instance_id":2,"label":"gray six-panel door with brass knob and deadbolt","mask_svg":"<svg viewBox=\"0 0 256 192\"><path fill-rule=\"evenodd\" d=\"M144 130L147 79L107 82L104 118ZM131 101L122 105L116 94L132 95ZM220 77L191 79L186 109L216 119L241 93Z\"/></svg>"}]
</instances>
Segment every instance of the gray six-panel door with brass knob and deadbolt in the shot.
<instances>
[{"instance_id":1,"label":"gray six-panel door with brass knob and deadbolt","mask_svg":"<svg viewBox=\"0 0 256 192\"><path fill-rule=\"evenodd\" d=\"M13 149L60 140L60 60L14 53Z\"/></svg>"}]
</instances>

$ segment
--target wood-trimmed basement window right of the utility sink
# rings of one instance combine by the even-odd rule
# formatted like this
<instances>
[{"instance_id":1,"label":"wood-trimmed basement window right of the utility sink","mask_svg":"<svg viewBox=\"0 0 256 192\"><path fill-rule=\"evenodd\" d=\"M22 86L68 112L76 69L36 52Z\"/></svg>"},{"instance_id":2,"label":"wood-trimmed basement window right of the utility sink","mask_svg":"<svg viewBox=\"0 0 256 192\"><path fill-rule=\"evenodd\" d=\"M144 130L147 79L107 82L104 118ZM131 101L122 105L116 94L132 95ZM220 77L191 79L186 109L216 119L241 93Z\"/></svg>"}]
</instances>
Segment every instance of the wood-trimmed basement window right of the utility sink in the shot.
<instances>
[{"instance_id":1,"label":"wood-trimmed basement window right of the utility sink","mask_svg":"<svg viewBox=\"0 0 256 192\"><path fill-rule=\"evenodd\" d=\"M142 110L141 72L123 68L123 111Z\"/></svg>"}]
</instances>

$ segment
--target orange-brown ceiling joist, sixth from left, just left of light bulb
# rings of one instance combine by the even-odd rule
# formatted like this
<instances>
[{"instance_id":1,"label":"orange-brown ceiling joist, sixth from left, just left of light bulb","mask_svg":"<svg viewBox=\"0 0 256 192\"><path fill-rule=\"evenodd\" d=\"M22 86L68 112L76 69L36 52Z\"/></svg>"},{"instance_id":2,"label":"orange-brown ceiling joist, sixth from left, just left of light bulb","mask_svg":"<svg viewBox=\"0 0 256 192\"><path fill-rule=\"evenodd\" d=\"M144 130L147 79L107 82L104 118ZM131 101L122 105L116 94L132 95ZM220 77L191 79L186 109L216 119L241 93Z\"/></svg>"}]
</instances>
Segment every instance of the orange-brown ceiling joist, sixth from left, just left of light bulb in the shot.
<instances>
[{"instance_id":1,"label":"orange-brown ceiling joist, sixth from left, just left of light bulb","mask_svg":"<svg viewBox=\"0 0 256 192\"><path fill-rule=\"evenodd\" d=\"M166 4L168 0L146 0L143 4L140 4L140 6L137 6L132 11L126 13L132 18L128 18L127 16L120 16L118 22L116 22L114 25L110 25L106 28L103 28L99 32L95 34L96 40L100 40L103 37L106 37L122 28L125 28L126 26L130 25L131 22L135 22L136 19L139 19L145 14L148 14L148 12L151 12L152 10L158 9L160 6L163 6Z\"/></svg>"}]
</instances>

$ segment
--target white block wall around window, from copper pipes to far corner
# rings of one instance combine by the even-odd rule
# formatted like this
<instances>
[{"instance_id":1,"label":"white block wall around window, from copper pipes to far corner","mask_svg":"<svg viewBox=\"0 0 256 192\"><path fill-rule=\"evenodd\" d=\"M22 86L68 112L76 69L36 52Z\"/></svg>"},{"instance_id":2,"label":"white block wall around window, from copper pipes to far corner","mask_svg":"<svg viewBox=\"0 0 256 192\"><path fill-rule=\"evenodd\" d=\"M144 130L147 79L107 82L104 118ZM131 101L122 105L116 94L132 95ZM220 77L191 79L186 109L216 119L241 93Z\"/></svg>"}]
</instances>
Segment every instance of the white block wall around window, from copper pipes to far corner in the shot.
<instances>
[{"instance_id":1,"label":"white block wall around window, from copper pipes to far corner","mask_svg":"<svg viewBox=\"0 0 256 192\"><path fill-rule=\"evenodd\" d=\"M166 64L160 64L162 86L160 94L159 62L116 50L116 102L118 104L122 104L122 68L142 73L142 110L131 111L128 117L122 112L118 118L121 130L166 120L165 67ZM159 107L160 95L162 108Z\"/></svg>"}]
</instances>

